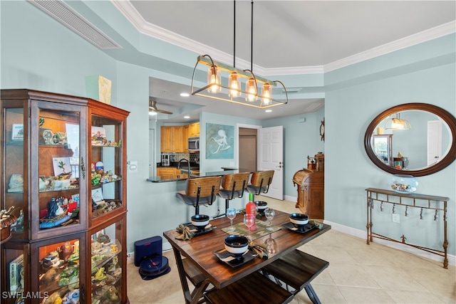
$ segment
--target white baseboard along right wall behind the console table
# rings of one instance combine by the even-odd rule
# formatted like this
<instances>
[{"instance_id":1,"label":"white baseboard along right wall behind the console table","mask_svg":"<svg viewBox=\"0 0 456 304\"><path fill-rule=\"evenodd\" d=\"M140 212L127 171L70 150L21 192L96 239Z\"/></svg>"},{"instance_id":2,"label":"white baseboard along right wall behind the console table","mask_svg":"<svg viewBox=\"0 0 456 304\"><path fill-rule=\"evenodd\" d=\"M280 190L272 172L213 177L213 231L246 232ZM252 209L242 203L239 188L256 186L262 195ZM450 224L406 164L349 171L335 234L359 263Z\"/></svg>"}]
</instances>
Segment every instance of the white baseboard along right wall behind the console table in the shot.
<instances>
[{"instance_id":1,"label":"white baseboard along right wall behind the console table","mask_svg":"<svg viewBox=\"0 0 456 304\"><path fill-rule=\"evenodd\" d=\"M333 223L332 221L324 220L323 222L325 224L331 225L331 229L333 229L333 230L340 231L340 232L343 232L344 234L349 234L351 236L356 236L356 237L358 237L360 239L365 239L366 240L366 238L367 238L367 231L366 230L354 229L352 227L348 227L348 226L344 226L344 225L341 225L341 224ZM391 247L391 248L395 248L395 249L398 249L398 250L401 250L401 251L405 251L405 252L408 252L408 253L413 253L416 256L423 256L423 258L430 258L431 260L439 261L439 262L443 263L443 257L442 256L438 256L437 254L430 253L430 252L427 252L427 251L423 251L421 249L418 249L418 248L415 248L415 247L412 247L412 246L408 246L408 245L405 245L403 243L396 243L396 242L393 242L393 241L388 241L388 240L383 240L383 239L378 239L378 238L375 238L375 243L380 243L382 245L385 245L385 246L388 246L388 247ZM456 266L456 256L452 256L451 254L448 254L447 258L448 258L448 265Z\"/></svg>"}]
</instances>

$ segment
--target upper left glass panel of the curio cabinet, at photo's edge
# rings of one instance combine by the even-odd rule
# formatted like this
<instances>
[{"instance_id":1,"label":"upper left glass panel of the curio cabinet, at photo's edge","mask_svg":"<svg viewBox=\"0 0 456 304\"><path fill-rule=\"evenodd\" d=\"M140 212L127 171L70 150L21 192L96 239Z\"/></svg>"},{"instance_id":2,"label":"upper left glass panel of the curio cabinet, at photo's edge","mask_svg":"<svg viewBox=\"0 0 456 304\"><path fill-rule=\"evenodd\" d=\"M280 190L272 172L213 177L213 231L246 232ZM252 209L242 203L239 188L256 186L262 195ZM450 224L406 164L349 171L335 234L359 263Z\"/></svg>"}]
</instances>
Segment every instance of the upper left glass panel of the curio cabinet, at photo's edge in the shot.
<instances>
[{"instance_id":1,"label":"upper left glass panel of the curio cabinet, at photo's edge","mask_svg":"<svg viewBox=\"0 0 456 304\"><path fill-rule=\"evenodd\" d=\"M4 172L0 177L0 209L9 213L9 219L1 219L1 242L11 236L28 239L28 226L24 229L24 225L28 225L28 187L26 184L24 187L24 181L28 179L28 122L24 118L24 107L26 103L22 100L1 103L3 149L0 155Z\"/></svg>"}]
</instances>

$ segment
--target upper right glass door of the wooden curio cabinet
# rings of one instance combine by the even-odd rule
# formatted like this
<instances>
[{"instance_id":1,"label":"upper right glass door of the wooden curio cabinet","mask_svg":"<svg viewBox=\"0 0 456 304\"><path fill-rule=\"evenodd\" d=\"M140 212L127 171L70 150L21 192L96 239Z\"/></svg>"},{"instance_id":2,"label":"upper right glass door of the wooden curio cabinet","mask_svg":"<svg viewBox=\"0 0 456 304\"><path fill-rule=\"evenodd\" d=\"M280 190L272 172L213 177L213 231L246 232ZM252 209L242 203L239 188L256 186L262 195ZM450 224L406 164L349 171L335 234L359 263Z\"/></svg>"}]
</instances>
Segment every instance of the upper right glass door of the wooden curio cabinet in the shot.
<instances>
[{"instance_id":1,"label":"upper right glass door of the wooden curio cabinet","mask_svg":"<svg viewBox=\"0 0 456 304\"><path fill-rule=\"evenodd\" d=\"M125 201L123 201L125 149L123 147L123 119L116 120L112 117L92 114L90 120L89 154L92 205L89 221L90 226L93 226L125 210Z\"/></svg>"}]
</instances>

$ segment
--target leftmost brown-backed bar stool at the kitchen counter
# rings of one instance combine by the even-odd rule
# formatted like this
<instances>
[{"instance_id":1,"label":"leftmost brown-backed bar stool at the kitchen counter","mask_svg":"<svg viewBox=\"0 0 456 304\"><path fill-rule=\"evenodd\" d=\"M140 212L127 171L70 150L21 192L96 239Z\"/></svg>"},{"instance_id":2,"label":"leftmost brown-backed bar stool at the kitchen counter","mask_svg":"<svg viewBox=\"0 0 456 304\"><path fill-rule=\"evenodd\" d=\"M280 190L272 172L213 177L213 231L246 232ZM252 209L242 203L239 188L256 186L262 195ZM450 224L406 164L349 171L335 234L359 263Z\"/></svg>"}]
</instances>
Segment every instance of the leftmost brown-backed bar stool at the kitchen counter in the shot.
<instances>
[{"instance_id":1,"label":"leftmost brown-backed bar stool at the kitchen counter","mask_svg":"<svg viewBox=\"0 0 456 304\"><path fill-rule=\"evenodd\" d=\"M195 207L195 215L199 214L199 205L212 205L217 199L222 177L197 177L185 181L185 191L177 192L176 197L187 205Z\"/></svg>"}]
</instances>

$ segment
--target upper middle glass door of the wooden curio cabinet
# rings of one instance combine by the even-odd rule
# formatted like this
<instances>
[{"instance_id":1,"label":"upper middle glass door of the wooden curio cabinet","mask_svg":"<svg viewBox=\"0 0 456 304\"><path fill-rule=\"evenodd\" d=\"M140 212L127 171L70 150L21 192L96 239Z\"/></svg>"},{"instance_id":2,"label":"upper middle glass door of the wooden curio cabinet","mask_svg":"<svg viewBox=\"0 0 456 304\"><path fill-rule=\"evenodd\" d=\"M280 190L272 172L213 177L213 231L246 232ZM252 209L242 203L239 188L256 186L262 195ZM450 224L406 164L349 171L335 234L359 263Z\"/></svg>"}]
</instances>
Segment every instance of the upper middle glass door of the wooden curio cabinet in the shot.
<instances>
[{"instance_id":1,"label":"upper middle glass door of the wooden curio cabinet","mask_svg":"<svg viewBox=\"0 0 456 304\"><path fill-rule=\"evenodd\" d=\"M31 193L38 196L38 204L31 206L32 239L86 227L86 206L79 204L86 194L86 145L81 140L86 130L84 110L41 101L32 107L32 120L38 124L31 131L36 147L31 154Z\"/></svg>"}]
</instances>

